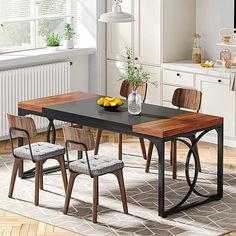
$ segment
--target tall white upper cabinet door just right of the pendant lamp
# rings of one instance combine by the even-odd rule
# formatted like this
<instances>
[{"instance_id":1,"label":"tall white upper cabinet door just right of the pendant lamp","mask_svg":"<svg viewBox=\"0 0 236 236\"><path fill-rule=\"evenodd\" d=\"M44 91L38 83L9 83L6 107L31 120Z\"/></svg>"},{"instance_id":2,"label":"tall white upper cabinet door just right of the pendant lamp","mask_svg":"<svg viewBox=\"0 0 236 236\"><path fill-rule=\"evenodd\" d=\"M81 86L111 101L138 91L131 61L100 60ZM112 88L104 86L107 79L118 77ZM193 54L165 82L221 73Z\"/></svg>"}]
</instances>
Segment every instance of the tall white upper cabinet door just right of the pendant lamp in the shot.
<instances>
[{"instance_id":1,"label":"tall white upper cabinet door just right of the pendant lamp","mask_svg":"<svg viewBox=\"0 0 236 236\"><path fill-rule=\"evenodd\" d=\"M135 0L134 53L140 63L160 65L161 1Z\"/></svg>"}]
</instances>

